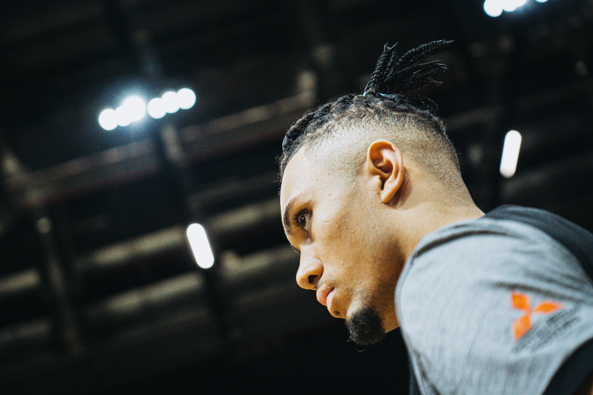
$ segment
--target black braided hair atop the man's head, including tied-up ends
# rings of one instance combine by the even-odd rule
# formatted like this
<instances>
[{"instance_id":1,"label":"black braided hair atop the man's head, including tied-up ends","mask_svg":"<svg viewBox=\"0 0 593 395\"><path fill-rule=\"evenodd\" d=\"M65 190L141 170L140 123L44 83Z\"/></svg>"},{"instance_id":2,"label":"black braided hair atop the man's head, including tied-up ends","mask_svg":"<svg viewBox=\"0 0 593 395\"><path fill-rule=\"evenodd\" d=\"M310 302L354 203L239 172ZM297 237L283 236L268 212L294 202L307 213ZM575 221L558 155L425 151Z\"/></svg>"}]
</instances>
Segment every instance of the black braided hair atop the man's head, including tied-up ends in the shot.
<instances>
[{"instance_id":1,"label":"black braided hair atop the man's head, including tied-up ends","mask_svg":"<svg viewBox=\"0 0 593 395\"><path fill-rule=\"evenodd\" d=\"M288 161L301 146L320 137L317 132L323 126L339 120L347 112L352 113L352 110L360 113L359 118L369 114L379 118L393 113L409 114L447 139L444 124L436 115L435 102L420 95L406 93L422 86L442 84L435 81L432 76L439 70L448 70L446 65L438 60L417 62L450 43L452 41L432 41L401 56L398 56L397 44L392 47L385 44L371 80L366 84L362 94L345 95L334 102L324 104L305 114L286 132L282 142L282 156L279 159L280 176Z\"/></svg>"}]
</instances>

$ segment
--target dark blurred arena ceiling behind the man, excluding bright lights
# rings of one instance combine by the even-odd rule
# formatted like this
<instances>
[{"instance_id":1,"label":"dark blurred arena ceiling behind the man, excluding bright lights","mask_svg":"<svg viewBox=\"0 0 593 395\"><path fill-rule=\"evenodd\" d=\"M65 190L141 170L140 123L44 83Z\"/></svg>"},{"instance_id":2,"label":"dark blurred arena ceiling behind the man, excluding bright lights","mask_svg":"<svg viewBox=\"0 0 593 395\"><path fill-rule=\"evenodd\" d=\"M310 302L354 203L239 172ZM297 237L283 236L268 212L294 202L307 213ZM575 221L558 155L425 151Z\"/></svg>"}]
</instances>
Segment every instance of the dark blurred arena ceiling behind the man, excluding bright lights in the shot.
<instances>
[{"instance_id":1,"label":"dark blurred arena ceiling behind the man, excluding bright lights","mask_svg":"<svg viewBox=\"0 0 593 395\"><path fill-rule=\"evenodd\" d=\"M278 200L286 129L361 92L385 43L455 40L431 57L444 84L417 93L482 210L593 229L591 0L499 17L480 0L22 0L0 20L2 393L405 393L397 330L357 350L297 287ZM98 124L127 95L180 88L189 110Z\"/></svg>"}]
</instances>

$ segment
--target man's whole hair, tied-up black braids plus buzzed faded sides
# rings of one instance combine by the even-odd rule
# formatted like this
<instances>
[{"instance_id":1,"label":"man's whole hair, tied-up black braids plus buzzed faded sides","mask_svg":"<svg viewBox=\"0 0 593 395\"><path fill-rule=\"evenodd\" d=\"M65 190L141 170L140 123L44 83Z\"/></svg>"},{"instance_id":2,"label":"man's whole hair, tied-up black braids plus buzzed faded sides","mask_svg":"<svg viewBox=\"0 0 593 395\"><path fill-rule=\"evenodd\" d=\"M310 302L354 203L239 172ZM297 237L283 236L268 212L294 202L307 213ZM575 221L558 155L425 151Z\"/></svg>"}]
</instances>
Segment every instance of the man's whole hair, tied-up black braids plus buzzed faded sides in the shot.
<instances>
[{"instance_id":1,"label":"man's whole hair, tied-up black braids plus buzzed faded sides","mask_svg":"<svg viewBox=\"0 0 593 395\"><path fill-rule=\"evenodd\" d=\"M436 115L436 104L405 94L424 85L440 84L431 76L447 70L447 66L438 61L416 62L450 42L423 44L401 57L395 46L385 45L363 94L346 95L310 111L288 130L279 158L280 178L289 160L303 147L314 149L326 142L348 147L344 165L358 171L368 145L386 139L435 175L449 191L465 195L457 155L442 119Z\"/></svg>"}]
</instances>

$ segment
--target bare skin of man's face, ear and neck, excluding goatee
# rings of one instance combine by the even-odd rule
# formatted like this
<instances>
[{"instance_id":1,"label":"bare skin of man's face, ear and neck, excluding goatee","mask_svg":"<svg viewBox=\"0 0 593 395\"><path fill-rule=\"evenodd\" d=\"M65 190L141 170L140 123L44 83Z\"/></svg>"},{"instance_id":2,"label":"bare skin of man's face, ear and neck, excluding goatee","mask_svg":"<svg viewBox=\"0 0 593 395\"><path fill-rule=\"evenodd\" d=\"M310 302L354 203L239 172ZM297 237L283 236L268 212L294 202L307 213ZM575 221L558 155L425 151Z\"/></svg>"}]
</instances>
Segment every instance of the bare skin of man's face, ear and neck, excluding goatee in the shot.
<instances>
[{"instance_id":1,"label":"bare skin of man's face, ear and neck, excluding goatee","mask_svg":"<svg viewBox=\"0 0 593 395\"><path fill-rule=\"evenodd\" d=\"M316 290L334 317L372 307L389 332L398 326L397 280L417 243L484 213L387 140L369 144L355 176L339 166L307 147L286 166L280 204L286 236L301 253L297 282Z\"/></svg>"}]
</instances>

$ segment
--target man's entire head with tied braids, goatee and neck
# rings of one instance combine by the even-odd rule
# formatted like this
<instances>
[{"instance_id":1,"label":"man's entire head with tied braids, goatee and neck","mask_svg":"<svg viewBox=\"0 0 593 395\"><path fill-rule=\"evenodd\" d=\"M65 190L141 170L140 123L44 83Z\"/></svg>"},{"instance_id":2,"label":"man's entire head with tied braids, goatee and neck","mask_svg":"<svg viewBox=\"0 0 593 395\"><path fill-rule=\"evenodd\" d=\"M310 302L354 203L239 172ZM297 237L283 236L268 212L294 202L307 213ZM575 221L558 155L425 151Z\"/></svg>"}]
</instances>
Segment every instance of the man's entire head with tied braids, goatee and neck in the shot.
<instances>
[{"instance_id":1,"label":"man's entire head with tied braids, goatee and neck","mask_svg":"<svg viewBox=\"0 0 593 395\"><path fill-rule=\"evenodd\" d=\"M415 62L444 44L399 59L386 47L365 94L305 115L283 143L280 203L301 253L297 282L317 290L361 345L397 327L398 277L416 243L436 229L435 216L473 205L428 99L400 92L435 82L429 76L444 65ZM397 73L395 88L385 83Z\"/></svg>"}]
</instances>

